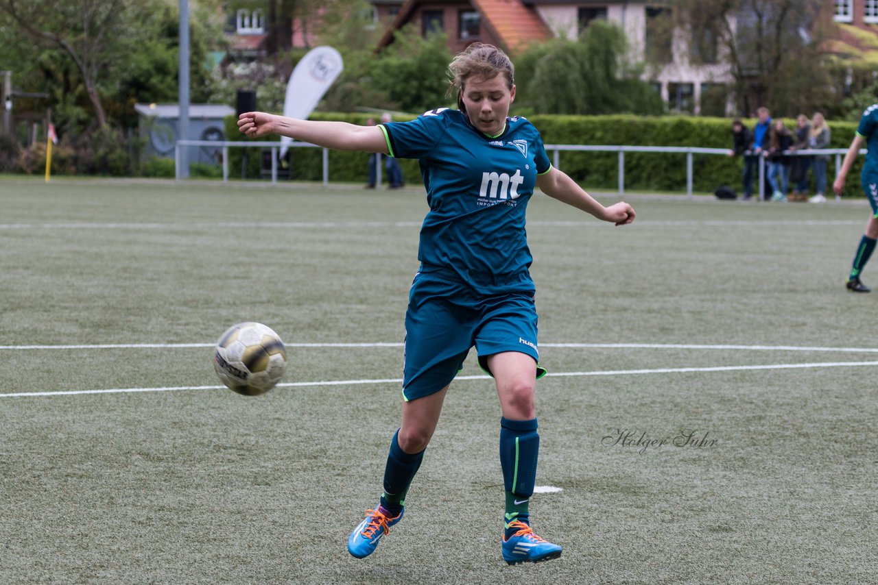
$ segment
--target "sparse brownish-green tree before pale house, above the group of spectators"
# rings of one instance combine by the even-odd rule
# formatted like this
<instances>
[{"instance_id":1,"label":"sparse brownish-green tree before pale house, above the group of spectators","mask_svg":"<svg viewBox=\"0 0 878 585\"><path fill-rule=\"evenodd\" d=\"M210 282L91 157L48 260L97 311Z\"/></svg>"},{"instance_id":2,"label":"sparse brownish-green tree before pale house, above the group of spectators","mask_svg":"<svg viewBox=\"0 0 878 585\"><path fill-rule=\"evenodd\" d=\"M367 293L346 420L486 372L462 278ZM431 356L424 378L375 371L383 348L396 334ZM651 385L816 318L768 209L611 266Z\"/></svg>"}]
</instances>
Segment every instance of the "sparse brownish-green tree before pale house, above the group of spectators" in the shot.
<instances>
[{"instance_id":1,"label":"sparse brownish-green tree before pale house, above the group of spectators","mask_svg":"<svg viewBox=\"0 0 878 585\"><path fill-rule=\"evenodd\" d=\"M831 78L819 53L824 38L824 0L670 0L677 30L702 32L734 80L739 112L767 105L789 116L830 105Z\"/></svg>"}]
</instances>

